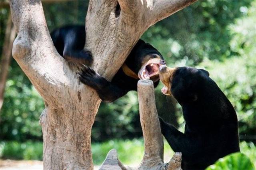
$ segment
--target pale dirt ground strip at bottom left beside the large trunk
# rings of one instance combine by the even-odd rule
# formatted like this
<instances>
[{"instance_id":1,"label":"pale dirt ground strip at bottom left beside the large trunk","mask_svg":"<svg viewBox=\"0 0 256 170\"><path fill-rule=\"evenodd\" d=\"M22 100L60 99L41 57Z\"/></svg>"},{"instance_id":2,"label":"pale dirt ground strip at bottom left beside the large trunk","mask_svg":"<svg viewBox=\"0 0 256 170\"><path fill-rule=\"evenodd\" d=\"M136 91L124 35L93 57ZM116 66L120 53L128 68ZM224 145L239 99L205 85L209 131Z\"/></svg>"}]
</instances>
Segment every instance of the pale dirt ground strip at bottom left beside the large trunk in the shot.
<instances>
[{"instance_id":1,"label":"pale dirt ground strip at bottom left beside the large trunk","mask_svg":"<svg viewBox=\"0 0 256 170\"><path fill-rule=\"evenodd\" d=\"M99 169L99 166L94 166L94 169ZM0 170L43 170L43 161L0 160Z\"/></svg>"}]
</instances>

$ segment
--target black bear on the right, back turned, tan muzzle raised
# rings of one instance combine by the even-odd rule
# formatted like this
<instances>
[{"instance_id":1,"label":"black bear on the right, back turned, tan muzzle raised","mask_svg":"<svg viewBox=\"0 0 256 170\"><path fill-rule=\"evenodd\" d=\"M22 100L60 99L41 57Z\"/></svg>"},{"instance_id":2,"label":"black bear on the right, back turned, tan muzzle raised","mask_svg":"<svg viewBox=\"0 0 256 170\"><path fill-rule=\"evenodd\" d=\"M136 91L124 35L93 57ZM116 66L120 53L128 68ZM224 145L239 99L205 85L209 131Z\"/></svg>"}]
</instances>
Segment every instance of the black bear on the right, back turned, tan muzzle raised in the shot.
<instances>
[{"instance_id":1,"label":"black bear on the right, back turned, tan muzzle raised","mask_svg":"<svg viewBox=\"0 0 256 170\"><path fill-rule=\"evenodd\" d=\"M208 71L162 65L159 75L162 93L178 101L186 122L182 133L159 119L171 148L182 152L182 169L205 169L218 158L240 151L236 112Z\"/></svg>"}]
</instances>

